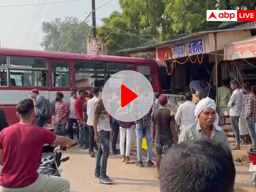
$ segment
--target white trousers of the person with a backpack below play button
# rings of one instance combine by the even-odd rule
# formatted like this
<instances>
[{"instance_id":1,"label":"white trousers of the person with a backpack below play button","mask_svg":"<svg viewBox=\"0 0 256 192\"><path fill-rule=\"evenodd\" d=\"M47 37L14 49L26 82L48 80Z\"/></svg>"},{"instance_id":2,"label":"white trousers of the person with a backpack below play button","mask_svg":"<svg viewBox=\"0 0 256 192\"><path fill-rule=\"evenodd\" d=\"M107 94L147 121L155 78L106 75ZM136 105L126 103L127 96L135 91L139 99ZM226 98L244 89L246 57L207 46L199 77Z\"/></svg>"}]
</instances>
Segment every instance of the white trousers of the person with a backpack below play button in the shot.
<instances>
[{"instance_id":1,"label":"white trousers of the person with a backpack below play button","mask_svg":"<svg viewBox=\"0 0 256 192\"><path fill-rule=\"evenodd\" d=\"M130 156L130 150L133 140L133 128L120 127L120 154L124 155L124 141L126 137L126 156Z\"/></svg>"}]
</instances>

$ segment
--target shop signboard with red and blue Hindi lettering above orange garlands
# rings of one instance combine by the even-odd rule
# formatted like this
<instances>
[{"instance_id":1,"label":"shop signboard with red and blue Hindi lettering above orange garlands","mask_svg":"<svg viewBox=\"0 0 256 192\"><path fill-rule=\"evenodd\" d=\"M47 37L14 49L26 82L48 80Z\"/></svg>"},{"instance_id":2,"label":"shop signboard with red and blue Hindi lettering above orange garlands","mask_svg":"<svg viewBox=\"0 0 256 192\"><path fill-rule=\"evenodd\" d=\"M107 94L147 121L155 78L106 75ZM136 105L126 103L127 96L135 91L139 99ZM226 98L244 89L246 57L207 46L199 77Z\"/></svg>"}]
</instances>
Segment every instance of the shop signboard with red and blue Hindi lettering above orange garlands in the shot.
<instances>
[{"instance_id":1,"label":"shop signboard with red and blue Hindi lettering above orange garlands","mask_svg":"<svg viewBox=\"0 0 256 192\"><path fill-rule=\"evenodd\" d=\"M156 60L171 60L205 53L203 39L192 40L188 43L173 47L156 47ZM171 46L171 45L170 45Z\"/></svg>"}]
</instances>

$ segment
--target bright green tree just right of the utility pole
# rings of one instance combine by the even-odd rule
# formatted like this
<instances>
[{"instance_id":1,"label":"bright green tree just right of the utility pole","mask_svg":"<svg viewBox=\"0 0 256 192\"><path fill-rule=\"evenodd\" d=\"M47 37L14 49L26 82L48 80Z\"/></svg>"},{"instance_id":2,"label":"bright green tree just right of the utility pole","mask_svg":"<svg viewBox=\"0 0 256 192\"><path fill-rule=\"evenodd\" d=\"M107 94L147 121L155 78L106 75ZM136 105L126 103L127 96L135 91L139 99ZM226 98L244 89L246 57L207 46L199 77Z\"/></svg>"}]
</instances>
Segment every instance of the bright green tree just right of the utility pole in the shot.
<instances>
[{"instance_id":1,"label":"bright green tree just right of the utility pole","mask_svg":"<svg viewBox=\"0 0 256 192\"><path fill-rule=\"evenodd\" d=\"M156 44L161 34L170 30L162 0L120 0L119 4L122 12L113 11L103 18L103 25L98 28L98 36L103 39L108 53Z\"/></svg>"}]
</instances>

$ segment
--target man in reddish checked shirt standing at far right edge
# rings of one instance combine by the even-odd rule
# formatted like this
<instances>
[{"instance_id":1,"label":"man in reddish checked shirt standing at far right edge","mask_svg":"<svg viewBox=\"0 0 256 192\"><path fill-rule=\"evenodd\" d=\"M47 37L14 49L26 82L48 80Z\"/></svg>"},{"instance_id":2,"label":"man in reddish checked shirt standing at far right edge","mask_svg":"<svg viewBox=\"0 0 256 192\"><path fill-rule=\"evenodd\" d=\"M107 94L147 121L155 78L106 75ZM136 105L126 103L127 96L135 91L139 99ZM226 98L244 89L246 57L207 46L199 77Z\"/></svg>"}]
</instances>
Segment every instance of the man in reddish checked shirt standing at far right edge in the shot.
<instances>
[{"instance_id":1,"label":"man in reddish checked shirt standing at far right edge","mask_svg":"<svg viewBox=\"0 0 256 192\"><path fill-rule=\"evenodd\" d=\"M247 124L249 134L252 140L252 146L256 147L256 96L252 92L252 88L250 85L247 85L245 87L245 91L248 94L245 101L245 122Z\"/></svg>"}]
</instances>

